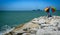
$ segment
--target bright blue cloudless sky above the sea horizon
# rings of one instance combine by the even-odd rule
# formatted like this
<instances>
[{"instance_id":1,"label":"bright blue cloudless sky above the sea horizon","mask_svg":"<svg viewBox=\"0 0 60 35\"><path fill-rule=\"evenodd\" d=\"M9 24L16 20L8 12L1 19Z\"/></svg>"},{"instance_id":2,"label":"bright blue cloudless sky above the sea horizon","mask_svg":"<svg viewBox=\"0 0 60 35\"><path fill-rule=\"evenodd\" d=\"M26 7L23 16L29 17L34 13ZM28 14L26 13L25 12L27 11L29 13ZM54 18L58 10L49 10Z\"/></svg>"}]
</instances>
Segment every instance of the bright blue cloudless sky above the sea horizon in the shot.
<instances>
[{"instance_id":1,"label":"bright blue cloudless sky above the sea horizon","mask_svg":"<svg viewBox=\"0 0 60 35\"><path fill-rule=\"evenodd\" d=\"M49 6L60 10L60 0L0 0L0 10L44 10Z\"/></svg>"}]
</instances>

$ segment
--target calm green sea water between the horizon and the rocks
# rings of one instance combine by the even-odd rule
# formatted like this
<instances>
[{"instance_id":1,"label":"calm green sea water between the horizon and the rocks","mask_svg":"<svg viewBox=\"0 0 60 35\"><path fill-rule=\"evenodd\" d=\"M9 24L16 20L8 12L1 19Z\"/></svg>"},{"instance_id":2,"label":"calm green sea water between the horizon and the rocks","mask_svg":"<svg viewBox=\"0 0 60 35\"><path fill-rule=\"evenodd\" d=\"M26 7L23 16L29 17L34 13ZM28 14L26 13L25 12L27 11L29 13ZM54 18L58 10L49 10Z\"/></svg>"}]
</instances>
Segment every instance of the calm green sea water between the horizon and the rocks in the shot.
<instances>
[{"instance_id":1,"label":"calm green sea water between the horizon and the rocks","mask_svg":"<svg viewBox=\"0 0 60 35\"><path fill-rule=\"evenodd\" d=\"M0 27L4 25L19 25L32 20L35 17L46 16L44 11L19 11L19 12L0 12ZM60 11L56 11L53 15L60 16Z\"/></svg>"}]
</instances>

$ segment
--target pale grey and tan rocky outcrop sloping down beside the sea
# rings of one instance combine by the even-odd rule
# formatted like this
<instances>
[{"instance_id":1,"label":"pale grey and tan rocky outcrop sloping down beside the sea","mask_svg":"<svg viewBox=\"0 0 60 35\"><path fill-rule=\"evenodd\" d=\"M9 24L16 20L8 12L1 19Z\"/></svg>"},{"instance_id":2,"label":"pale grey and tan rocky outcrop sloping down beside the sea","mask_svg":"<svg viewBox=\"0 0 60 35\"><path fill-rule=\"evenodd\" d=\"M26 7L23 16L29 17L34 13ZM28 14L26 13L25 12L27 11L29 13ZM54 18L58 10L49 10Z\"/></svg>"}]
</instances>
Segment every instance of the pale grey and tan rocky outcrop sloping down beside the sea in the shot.
<instances>
[{"instance_id":1,"label":"pale grey and tan rocky outcrop sloping down beside the sea","mask_svg":"<svg viewBox=\"0 0 60 35\"><path fill-rule=\"evenodd\" d=\"M4 35L60 35L60 16L41 16Z\"/></svg>"}]
</instances>

